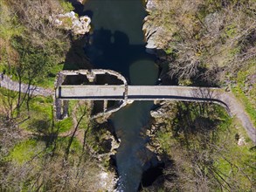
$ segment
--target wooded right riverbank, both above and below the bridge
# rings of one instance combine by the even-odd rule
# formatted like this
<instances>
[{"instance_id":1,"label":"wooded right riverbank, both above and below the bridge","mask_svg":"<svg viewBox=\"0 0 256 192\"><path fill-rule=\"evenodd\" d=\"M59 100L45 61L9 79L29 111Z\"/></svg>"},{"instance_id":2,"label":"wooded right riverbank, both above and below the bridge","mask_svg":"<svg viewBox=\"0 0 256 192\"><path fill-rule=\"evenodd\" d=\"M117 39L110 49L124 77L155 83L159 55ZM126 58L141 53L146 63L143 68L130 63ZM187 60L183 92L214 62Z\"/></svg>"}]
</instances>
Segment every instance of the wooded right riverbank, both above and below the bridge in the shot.
<instances>
[{"instance_id":1,"label":"wooded right riverbank, both above and below the bridge","mask_svg":"<svg viewBox=\"0 0 256 192\"><path fill-rule=\"evenodd\" d=\"M199 9L199 4L203 7L202 9ZM214 13L214 9L217 9L215 6L218 6L218 13ZM251 3L249 6L253 7L253 4ZM177 7L178 9L176 9ZM230 28L224 26L224 31L222 31L223 28L216 30L216 27L218 28L216 22L220 21L218 15L225 15L230 21L235 19L235 16L226 12L227 8L232 9L229 4L224 6L219 3L213 5L200 1L198 3L189 1L179 3L149 0L147 3L149 15L145 18L143 25L148 42L147 47L151 53L160 58L162 65L168 66L162 76L169 76L169 79L163 80L163 85L172 85L174 81L179 86L221 86L226 90L235 87L232 88L232 91L239 90L239 94L243 95L242 98L246 98L246 101L242 100L241 103L245 106L250 103L250 106L253 106L249 110L246 109L246 113L249 114L251 121L255 122L253 115L256 107L255 93L253 92L255 82L252 83L255 73L253 70L255 56L251 55L252 57L246 58L247 60L240 59L244 66L240 64L242 67L239 69L237 63L230 63L232 58L241 57L241 52L234 51L241 47L239 41L235 39L250 37L252 40L253 28L244 33L243 37L239 37L238 31L232 31L232 35L219 36L222 32L230 32ZM233 7L233 9L237 8ZM202 10L204 12L200 12ZM239 13L244 14L241 11ZM244 17L246 16L244 15ZM247 19L250 20L252 17ZM200 23L204 24L207 31L200 31ZM236 29L236 27L234 28ZM213 32L217 31L219 34L213 35ZM209 36L213 40L208 39ZM217 37L225 39L225 41L216 44ZM231 41L234 46L227 46ZM250 45L246 46L248 50L244 53L250 54L254 48ZM221 51L219 47L225 47L225 50L228 51ZM197 51L193 50L194 48ZM213 56L207 60L204 53L211 55L216 50L218 50L218 57ZM228 55L229 51L232 52L232 55ZM228 57L226 57L227 55ZM208 63L205 64L204 61ZM214 68L211 64L218 67ZM230 66L233 67L232 70ZM227 71L230 73L226 76ZM246 80L242 82L241 78ZM234 94L238 95L237 92ZM240 96L236 99L239 100ZM223 109L211 104L181 102L164 102L156 111L151 112L151 116L153 123L147 131L150 138L147 147L158 154L158 158L163 161L165 166L163 175L159 176L152 186L145 188L145 191L156 189L163 191L175 189L182 191L246 190L254 188L253 182L251 182L253 175L250 174L250 168L246 169L247 179L244 177L245 175L241 176L245 179L243 179L244 182L236 182L238 177L235 175L243 175L243 173L239 170L232 170L233 165L237 168L245 168L245 161L250 161L253 156L253 148L255 148L236 117L229 118ZM253 124L255 126L255 123ZM235 175L229 175L228 171Z\"/></svg>"}]
</instances>

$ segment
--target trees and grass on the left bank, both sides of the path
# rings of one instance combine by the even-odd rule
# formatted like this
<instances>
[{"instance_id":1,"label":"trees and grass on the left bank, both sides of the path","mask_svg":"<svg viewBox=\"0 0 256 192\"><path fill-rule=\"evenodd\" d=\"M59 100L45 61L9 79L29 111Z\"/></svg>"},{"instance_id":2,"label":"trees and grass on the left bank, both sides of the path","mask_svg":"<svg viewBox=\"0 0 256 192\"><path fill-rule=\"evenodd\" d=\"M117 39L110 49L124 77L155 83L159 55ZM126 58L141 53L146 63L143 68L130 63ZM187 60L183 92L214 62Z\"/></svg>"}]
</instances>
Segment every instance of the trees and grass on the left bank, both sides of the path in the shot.
<instances>
[{"instance_id":1,"label":"trees and grass on the left bank, both sides of the path","mask_svg":"<svg viewBox=\"0 0 256 192\"><path fill-rule=\"evenodd\" d=\"M0 0L0 72L53 88L71 39L48 19L71 10L65 0ZM99 152L104 138L93 135L87 104L70 102L69 116L59 121L52 104L52 96L0 87L0 189L102 191L99 175L107 164L96 160L93 148Z\"/></svg>"}]
</instances>

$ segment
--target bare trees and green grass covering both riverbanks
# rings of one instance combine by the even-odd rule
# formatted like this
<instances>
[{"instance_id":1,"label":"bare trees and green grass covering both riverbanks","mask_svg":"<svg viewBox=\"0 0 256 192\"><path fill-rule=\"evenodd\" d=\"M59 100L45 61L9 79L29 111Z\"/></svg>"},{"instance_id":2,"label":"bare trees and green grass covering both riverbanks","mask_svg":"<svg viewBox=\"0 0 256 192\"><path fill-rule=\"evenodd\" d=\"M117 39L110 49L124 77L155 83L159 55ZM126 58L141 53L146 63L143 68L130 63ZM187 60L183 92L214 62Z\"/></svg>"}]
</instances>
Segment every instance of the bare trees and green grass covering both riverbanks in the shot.
<instances>
[{"instance_id":1,"label":"bare trees and green grass covering both riverbanks","mask_svg":"<svg viewBox=\"0 0 256 192\"><path fill-rule=\"evenodd\" d=\"M170 76L179 85L231 86L255 125L255 1L155 1L148 22L161 29L156 45ZM71 10L66 0L0 0L0 72L52 88L61 69L84 67L84 42L73 39L71 51L66 31L49 23ZM102 191L108 160L94 157L109 152L112 127L90 120L84 101L70 101L69 117L57 121L52 103L0 87L0 189ZM152 138L166 165L158 191L255 189L255 147L237 120L211 104L169 106Z\"/></svg>"}]
</instances>

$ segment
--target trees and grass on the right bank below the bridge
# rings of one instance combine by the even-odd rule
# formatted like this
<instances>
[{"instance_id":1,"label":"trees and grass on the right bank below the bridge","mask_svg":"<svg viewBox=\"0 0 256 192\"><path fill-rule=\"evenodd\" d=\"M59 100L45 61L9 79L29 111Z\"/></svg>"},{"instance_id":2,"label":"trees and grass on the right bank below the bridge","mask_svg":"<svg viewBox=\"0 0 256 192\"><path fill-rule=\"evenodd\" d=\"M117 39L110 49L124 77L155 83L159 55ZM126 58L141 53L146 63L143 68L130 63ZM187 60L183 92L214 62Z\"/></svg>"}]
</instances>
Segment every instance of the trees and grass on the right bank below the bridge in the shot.
<instances>
[{"instance_id":1,"label":"trees and grass on the right bank below the bridge","mask_svg":"<svg viewBox=\"0 0 256 192\"><path fill-rule=\"evenodd\" d=\"M170 108L170 118L156 120L160 127L152 141L167 165L157 188L253 191L255 149L250 140L237 144L243 128L220 106L170 103Z\"/></svg>"}]
</instances>

